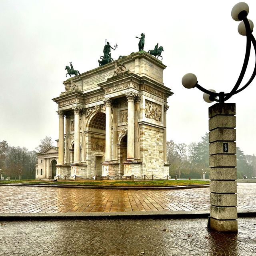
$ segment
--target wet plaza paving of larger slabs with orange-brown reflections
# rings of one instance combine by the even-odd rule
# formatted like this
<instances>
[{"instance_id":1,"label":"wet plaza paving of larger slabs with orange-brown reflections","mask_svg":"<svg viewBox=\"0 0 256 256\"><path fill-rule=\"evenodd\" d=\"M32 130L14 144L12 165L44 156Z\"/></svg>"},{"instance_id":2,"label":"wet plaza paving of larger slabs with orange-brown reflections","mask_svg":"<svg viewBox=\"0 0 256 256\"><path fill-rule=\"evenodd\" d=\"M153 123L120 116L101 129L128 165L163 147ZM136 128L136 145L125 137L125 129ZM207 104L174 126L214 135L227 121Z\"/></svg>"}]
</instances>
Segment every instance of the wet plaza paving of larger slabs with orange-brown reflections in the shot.
<instances>
[{"instance_id":1,"label":"wet plaza paving of larger slabs with orange-brown reflections","mask_svg":"<svg viewBox=\"0 0 256 256\"><path fill-rule=\"evenodd\" d=\"M256 209L256 183L238 183L238 210ZM0 213L209 210L209 188L118 190L0 186Z\"/></svg>"}]
</instances>

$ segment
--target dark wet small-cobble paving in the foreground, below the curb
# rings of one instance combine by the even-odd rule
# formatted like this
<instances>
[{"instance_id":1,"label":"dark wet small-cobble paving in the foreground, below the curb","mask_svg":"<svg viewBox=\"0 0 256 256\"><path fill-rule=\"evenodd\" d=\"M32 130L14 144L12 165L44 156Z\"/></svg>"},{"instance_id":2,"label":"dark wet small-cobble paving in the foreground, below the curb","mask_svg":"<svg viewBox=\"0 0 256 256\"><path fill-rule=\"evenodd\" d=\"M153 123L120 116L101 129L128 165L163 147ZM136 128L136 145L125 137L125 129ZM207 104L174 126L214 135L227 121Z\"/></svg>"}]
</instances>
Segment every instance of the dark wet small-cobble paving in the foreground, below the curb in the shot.
<instances>
[{"instance_id":1,"label":"dark wet small-cobble paving in the foreground, below the curb","mask_svg":"<svg viewBox=\"0 0 256 256\"><path fill-rule=\"evenodd\" d=\"M239 218L237 234L212 232L206 225L206 219L157 218L5 221L0 255L256 255L256 218Z\"/></svg>"}]
</instances>

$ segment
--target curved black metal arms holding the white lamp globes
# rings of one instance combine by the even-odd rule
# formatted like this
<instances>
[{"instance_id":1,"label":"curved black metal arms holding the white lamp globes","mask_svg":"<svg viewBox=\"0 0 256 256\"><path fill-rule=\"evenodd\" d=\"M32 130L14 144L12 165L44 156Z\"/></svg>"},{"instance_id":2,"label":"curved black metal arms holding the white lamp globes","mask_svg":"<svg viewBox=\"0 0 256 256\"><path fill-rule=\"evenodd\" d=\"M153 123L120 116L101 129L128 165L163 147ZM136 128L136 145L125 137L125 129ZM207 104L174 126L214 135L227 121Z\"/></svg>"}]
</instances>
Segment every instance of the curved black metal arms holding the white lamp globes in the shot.
<instances>
[{"instance_id":1,"label":"curved black metal arms holding the white lamp globes","mask_svg":"<svg viewBox=\"0 0 256 256\"><path fill-rule=\"evenodd\" d=\"M194 86L194 87L198 88L199 90L201 90L202 92L209 94L210 97L212 98L212 100L214 100L216 102L225 102L226 100L230 99L234 94L241 92L252 82L252 80L256 76L256 60L255 60L255 66L254 66L254 71L252 73L252 76L250 77L248 82L242 88L240 88L238 90L238 87L240 86L240 84L244 78L244 74L245 74L246 68L248 66L248 62L249 62L249 58L250 58L251 42L253 44L255 56L256 56L256 40L255 40L254 36L252 35L251 29L250 29L250 23L249 23L247 17L245 17L243 19L243 22L244 22L244 25L246 28L246 52L245 52L245 56L244 56L244 64L242 66L242 70L240 72L238 80L237 80L236 84L234 85L234 88L231 90L231 92L229 92L229 93L211 92L209 90L206 90L202 86L200 86L198 83L196 83L196 85ZM217 99L216 97L219 97L219 99Z\"/></svg>"}]
</instances>

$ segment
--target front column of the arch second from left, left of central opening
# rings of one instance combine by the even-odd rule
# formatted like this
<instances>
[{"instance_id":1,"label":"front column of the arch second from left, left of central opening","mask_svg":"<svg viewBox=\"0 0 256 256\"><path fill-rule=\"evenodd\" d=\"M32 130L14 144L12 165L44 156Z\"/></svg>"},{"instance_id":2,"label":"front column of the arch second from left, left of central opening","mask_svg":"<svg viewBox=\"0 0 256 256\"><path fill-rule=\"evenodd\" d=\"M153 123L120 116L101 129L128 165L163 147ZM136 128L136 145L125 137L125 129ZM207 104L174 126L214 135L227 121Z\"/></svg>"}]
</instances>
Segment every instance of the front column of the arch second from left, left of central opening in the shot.
<instances>
[{"instance_id":1,"label":"front column of the arch second from left, left of central opening","mask_svg":"<svg viewBox=\"0 0 256 256\"><path fill-rule=\"evenodd\" d=\"M74 164L80 163L80 110L82 108L73 107L75 122L74 122Z\"/></svg>"}]
</instances>

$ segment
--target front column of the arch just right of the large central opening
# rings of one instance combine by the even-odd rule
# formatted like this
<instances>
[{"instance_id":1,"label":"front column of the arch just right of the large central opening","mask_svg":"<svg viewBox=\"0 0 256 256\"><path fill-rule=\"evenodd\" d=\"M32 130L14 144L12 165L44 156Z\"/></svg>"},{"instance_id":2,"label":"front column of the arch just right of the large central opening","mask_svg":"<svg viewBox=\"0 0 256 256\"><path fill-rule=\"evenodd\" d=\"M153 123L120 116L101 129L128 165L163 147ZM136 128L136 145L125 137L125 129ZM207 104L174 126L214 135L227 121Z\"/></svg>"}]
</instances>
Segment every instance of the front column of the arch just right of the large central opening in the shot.
<instances>
[{"instance_id":1,"label":"front column of the arch just right of the large central opening","mask_svg":"<svg viewBox=\"0 0 256 256\"><path fill-rule=\"evenodd\" d=\"M106 106L106 156L105 161L112 161L111 158L111 99L104 100Z\"/></svg>"}]
</instances>

